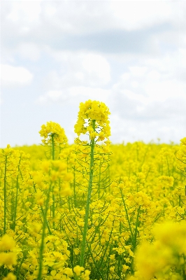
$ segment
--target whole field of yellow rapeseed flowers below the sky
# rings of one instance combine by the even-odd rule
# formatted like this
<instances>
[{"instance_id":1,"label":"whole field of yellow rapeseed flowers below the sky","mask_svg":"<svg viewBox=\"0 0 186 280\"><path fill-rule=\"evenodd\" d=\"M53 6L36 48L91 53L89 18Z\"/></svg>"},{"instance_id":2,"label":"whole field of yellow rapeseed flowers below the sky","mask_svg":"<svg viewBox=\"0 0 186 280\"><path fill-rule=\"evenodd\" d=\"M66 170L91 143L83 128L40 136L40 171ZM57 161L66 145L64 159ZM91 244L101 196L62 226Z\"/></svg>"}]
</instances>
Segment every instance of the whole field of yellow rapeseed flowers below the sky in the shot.
<instances>
[{"instance_id":1,"label":"whole field of yellow rapeseed flowers below the sky","mask_svg":"<svg viewBox=\"0 0 186 280\"><path fill-rule=\"evenodd\" d=\"M80 104L77 138L0 150L1 280L186 279L186 137L111 144L109 109Z\"/></svg>"}]
</instances>

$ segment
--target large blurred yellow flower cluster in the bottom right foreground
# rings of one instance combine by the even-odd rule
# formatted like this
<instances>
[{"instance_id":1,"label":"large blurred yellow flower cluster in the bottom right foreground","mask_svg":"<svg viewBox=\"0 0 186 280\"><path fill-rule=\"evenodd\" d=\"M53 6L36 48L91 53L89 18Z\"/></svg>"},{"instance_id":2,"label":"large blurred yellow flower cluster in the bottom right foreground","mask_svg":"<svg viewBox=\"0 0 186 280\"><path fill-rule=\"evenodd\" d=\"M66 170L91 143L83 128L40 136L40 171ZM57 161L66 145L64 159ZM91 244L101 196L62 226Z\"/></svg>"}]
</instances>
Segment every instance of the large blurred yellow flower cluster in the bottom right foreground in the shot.
<instances>
[{"instance_id":1,"label":"large blurred yellow flower cluster in the bottom right foreground","mask_svg":"<svg viewBox=\"0 0 186 280\"><path fill-rule=\"evenodd\" d=\"M136 273L129 280L184 279L186 223L155 225L153 243L143 241L136 251ZM154 278L155 277L155 278Z\"/></svg>"}]
</instances>

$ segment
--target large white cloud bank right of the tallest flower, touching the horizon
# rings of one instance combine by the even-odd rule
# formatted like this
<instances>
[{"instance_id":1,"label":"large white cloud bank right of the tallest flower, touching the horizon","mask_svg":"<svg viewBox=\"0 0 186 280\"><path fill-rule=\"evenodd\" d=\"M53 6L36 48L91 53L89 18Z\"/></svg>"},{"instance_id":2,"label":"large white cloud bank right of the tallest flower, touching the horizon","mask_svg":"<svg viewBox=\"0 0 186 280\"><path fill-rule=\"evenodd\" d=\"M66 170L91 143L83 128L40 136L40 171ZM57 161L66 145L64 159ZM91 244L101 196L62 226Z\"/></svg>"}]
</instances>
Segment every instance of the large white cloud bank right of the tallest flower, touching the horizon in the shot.
<instances>
[{"instance_id":1,"label":"large white cloud bank right of the tallest flower, touching the horizon","mask_svg":"<svg viewBox=\"0 0 186 280\"><path fill-rule=\"evenodd\" d=\"M118 77L111 91L110 109L118 118L111 125L115 127L113 134L121 135L118 142L131 141L134 136L134 141L159 137L178 143L184 136L186 82L184 62L179 61L179 55L184 59L185 50L157 59L138 57L135 64L126 57L128 69Z\"/></svg>"}]
</instances>

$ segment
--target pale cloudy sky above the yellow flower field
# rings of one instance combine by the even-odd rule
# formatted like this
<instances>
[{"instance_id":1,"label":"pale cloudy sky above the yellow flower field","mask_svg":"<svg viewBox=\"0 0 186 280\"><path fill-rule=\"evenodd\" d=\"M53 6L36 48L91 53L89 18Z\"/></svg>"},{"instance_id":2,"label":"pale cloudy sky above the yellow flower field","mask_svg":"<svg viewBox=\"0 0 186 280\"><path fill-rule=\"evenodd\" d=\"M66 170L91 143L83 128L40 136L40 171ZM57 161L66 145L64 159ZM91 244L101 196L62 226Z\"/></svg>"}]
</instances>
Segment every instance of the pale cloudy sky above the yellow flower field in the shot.
<instances>
[{"instance_id":1,"label":"pale cloudy sky above the yellow flower field","mask_svg":"<svg viewBox=\"0 0 186 280\"><path fill-rule=\"evenodd\" d=\"M1 1L0 147L73 143L79 104L110 109L110 140L186 137L186 1ZM160 139L160 140L159 140Z\"/></svg>"}]
</instances>

